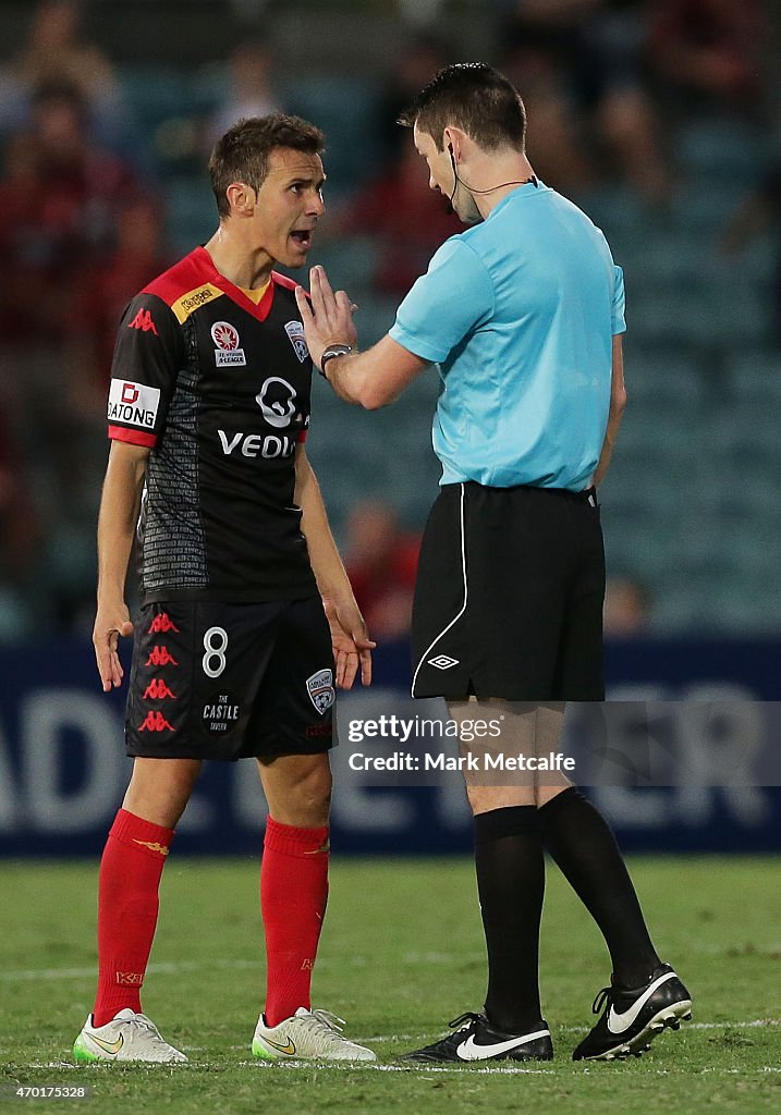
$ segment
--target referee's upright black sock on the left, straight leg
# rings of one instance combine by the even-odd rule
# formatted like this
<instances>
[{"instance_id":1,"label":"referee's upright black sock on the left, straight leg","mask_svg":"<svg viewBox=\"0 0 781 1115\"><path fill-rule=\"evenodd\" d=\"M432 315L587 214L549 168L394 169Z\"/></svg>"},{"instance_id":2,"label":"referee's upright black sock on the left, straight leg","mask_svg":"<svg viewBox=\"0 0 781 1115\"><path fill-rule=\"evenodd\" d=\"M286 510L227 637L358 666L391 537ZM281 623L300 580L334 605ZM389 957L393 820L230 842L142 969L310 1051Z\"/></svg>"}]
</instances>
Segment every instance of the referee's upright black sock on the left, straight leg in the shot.
<instances>
[{"instance_id":1,"label":"referee's upright black sock on the left, straight leg","mask_svg":"<svg viewBox=\"0 0 781 1115\"><path fill-rule=\"evenodd\" d=\"M538 963L544 859L538 809L512 805L474 818L474 861L489 959L485 1014L505 1034L540 1021Z\"/></svg>"}]
</instances>

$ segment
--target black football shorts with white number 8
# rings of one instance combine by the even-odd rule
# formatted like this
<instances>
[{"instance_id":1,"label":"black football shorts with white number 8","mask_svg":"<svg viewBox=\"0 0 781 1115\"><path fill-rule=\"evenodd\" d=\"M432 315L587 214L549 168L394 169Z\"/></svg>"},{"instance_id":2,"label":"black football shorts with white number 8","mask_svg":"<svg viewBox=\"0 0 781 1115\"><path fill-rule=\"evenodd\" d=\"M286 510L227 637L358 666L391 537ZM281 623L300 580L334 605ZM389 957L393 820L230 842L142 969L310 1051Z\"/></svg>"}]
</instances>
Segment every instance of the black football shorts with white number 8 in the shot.
<instances>
[{"instance_id":1,"label":"black football shorts with white number 8","mask_svg":"<svg viewBox=\"0 0 781 1115\"><path fill-rule=\"evenodd\" d=\"M334 657L319 597L170 601L135 623L128 755L239 759L332 746Z\"/></svg>"}]
</instances>

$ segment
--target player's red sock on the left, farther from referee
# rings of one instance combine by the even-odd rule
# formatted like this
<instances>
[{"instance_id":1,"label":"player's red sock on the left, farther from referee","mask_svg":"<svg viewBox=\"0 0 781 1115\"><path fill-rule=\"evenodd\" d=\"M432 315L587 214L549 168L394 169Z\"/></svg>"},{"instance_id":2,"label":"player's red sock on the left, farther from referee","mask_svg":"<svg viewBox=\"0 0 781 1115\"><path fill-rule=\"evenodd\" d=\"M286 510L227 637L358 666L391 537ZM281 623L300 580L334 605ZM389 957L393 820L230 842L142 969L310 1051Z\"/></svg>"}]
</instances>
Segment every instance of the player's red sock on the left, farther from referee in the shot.
<instances>
[{"instance_id":1,"label":"player's red sock on the left, farther from referee","mask_svg":"<svg viewBox=\"0 0 781 1115\"><path fill-rule=\"evenodd\" d=\"M119 809L98 879L98 987L94 1025L141 1010L141 987L157 925L157 890L173 828Z\"/></svg>"}]
</instances>

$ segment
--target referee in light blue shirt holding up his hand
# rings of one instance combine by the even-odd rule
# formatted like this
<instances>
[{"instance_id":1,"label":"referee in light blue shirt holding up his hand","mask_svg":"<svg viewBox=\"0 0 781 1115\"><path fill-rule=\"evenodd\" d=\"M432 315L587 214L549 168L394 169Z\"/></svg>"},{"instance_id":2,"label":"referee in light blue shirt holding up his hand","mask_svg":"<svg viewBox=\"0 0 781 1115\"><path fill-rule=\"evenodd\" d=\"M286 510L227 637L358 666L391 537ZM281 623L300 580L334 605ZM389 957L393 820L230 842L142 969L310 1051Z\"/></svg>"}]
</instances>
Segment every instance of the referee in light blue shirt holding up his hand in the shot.
<instances>
[{"instance_id":1,"label":"referee in light blue shirt holding up his hand","mask_svg":"<svg viewBox=\"0 0 781 1115\"><path fill-rule=\"evenodd\" d=\"M453 719L503 717L517 753L556 745L566 700L601 700L605 560L597 487L626 401L624 279L607 241L540 182L526 113L482 64L450 66L399 122L430 185L465 225L435 253L390 332L356 351L350 302L311 271L297 291L307 343L341 398L385 406L432 363L442 488L421 549L412 690ZM484 779L486 780L486 779ZM472 785L489 958L484 1008L407 1055L417 1061L553 1056L538 981L547 847L595 918L613 979L576 1059L643 1053L691 1017L656 953L613 834L558 785Z\"/></svg>"}]
</instances>

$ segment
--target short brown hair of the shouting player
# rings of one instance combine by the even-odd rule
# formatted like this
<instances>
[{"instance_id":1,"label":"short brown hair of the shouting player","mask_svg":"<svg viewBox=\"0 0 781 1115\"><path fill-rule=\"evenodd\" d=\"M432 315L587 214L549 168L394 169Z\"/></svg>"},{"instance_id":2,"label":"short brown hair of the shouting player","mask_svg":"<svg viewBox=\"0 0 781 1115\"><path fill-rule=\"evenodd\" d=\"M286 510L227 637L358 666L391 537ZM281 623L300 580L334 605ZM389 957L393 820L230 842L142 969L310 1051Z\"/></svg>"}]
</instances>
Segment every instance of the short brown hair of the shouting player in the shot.
<instances>
[{"instance_id":1,"label":"short brown hair of the shouting player","mask_svg":"<svg viewBox=\"0 0 781 1115\"><path fill-rule=\"evenodd\" d=\"M238 120L218 139L209 159L209 174L220 216L230 215L226 191L232 182L260 190L269 171L269 155L278 147L321 155L326 137L300 116L273 113Z\"/></svg>"}]
</instances>

